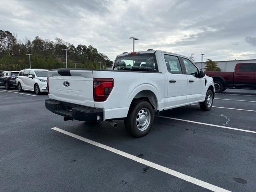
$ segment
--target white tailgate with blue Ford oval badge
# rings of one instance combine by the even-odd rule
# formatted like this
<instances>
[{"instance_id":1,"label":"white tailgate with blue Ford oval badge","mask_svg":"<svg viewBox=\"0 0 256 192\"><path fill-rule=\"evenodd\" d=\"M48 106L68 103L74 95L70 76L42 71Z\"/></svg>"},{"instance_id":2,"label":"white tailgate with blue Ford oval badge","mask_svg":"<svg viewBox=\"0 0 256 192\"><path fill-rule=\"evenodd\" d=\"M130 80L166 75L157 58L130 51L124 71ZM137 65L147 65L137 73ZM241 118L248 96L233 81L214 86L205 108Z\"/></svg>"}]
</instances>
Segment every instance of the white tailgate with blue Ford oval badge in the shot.
<instances>
[{"instance_id":1,"label":"white tailgate with blue Ford oval badge","mask_svg":"<svg viewBox=\"0 0 256 192\"><path fill-rule=\"evenodd\" d=\"M48 71L49 98L94 107L92 70Z\"/></svg>"}]
</instances>

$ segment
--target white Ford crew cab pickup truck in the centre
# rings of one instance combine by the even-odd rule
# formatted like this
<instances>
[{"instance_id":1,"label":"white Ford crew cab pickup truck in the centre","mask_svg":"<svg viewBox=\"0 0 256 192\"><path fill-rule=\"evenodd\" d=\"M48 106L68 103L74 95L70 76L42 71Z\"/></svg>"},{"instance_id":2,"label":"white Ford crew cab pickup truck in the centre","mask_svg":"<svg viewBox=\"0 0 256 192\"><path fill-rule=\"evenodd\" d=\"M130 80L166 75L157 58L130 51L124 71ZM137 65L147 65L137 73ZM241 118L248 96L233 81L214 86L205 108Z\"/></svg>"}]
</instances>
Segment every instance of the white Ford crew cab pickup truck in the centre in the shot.
<instances>
[{"instance_id":1,"label":"white Ford crew cab pickup truck in the centre","mask_svg":"<svg viewBox=\"0 0 256 192\"><path fill-rule=\"evenodd\" d=\"M112 70L53 69L48 71L45 106L64 120L86 122L124 119L135 137L146 135L162 110L199 103L210 110L211 77L187 57L165 51L123 53Z\"/></svg>"}]
</instances>

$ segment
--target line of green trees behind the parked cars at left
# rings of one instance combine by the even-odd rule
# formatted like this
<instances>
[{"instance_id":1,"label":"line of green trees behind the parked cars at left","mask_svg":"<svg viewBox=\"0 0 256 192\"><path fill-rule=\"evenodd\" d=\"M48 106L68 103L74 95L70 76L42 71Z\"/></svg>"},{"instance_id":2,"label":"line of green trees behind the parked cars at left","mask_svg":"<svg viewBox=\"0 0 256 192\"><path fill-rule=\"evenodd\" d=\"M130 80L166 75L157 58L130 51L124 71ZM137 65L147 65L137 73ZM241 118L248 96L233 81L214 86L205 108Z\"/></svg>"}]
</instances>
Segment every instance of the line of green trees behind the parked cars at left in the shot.
<instances>
[{"instance_id":1,"label":"line of green trees behind the parked cars at left","mask_svg":"<svg viewBox=\"0 0 256 192\"><path fill-rule=\"evenodd\" d=\"M79 44L74 46L60 38L54 41L36 36L33 40L20 41L16 34L0 30L0 70L22 70L29 68L66 68L66 54L68 50L68 68L100 68L112 66L113 62L103 53L98 52L93 46Z\"/></svg>"}]
</instances>

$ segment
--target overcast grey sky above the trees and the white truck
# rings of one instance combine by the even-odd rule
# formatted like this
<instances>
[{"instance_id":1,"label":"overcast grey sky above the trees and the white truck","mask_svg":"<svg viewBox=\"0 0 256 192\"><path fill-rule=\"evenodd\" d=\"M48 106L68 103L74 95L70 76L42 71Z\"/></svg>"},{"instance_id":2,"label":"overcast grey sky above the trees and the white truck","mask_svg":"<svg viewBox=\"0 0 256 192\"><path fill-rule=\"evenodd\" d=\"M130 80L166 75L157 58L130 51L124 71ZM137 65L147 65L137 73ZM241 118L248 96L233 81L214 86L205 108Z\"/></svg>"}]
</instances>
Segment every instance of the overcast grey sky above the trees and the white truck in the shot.
<instances>
[{"instance_id":1,"label":"overcast grey sky above the trees and the white truck","mask_svg":"<svg viewBox=\"0 0 256 192\"><path fill-rule=\"evenodd\" d=\"M165 50L196 61L256 58L256 0L0 0L0 30L20 40L92 45L111 60Z\"/></svg>"}]
</instances>

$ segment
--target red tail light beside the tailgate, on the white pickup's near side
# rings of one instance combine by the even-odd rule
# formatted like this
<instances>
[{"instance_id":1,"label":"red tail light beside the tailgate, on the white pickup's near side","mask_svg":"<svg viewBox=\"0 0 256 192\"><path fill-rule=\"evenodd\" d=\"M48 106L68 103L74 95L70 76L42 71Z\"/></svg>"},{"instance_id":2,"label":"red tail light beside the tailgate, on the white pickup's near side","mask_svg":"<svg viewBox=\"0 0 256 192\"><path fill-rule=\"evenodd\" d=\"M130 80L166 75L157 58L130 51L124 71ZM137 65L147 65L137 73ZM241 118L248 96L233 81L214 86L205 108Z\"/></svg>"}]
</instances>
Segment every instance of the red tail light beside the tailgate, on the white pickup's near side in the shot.
<instances>
[{"instance_id":1,"label":"red tail light beside the tailgate, on the white pickup's near side","mask_svg":"<svg viewBox=\"0 0 256 192\"><path fill-rule=\"evenodd\" d=\"M93 99L94 101L106 101L114 87L112 78L94 78L93 79Z\"/></svg>"}]
</instances>

